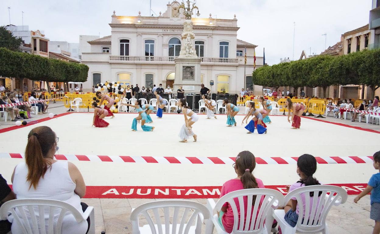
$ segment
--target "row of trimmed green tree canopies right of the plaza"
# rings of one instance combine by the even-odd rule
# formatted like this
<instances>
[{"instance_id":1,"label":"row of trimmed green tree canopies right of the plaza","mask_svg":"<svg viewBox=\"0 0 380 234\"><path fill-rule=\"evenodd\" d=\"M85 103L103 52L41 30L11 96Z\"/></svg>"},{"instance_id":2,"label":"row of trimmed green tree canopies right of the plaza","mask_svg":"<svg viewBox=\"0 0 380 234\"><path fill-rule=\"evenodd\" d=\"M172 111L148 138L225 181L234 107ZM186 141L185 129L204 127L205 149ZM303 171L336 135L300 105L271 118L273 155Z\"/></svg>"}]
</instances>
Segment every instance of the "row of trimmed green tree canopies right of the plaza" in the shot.
<instances>
[{"instance_id":1,"label":"row of trimmed green tree canopies right of the plaza","mask_svg":"<svg viewBox=\"0 0 380 234\"><path fill-rule=\"evenodd\" d=\"M338 57L320 55L304 60L263 66L252 74L255 85L278 88L322 87L325 97L330 85L380 86L380 49L363 50Z\"/></svg>"}]
</instances>

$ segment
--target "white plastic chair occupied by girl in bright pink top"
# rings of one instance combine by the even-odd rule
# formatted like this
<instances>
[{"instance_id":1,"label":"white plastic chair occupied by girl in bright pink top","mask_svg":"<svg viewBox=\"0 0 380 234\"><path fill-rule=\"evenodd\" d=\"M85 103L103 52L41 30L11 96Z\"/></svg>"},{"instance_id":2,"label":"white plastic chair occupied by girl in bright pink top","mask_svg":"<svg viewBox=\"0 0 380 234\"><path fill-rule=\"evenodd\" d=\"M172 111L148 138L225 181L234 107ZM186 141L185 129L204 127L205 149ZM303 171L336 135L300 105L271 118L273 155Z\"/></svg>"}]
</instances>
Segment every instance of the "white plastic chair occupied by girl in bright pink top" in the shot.
<instances>
[{"instance_id":1,"label":"white plastic chair occupied by girl in bright pink top","mask_svg":"<svg viewBox=\"0 0 380 234\"><path fill-rule=\"evenodd\" d=\"M255 201L253 201L253 196L256 196ZM247 199L246 207L244 206L244 197ZM263 198L263 202L260 204L261 198ZM207 209L209 209L211 214L213 214L214 210L220 212L223 204L227 202L230 204L234 213L232 233L269 234L274 220L272 217L273 209L277 208L278 204L283 203L283 198L282 193L274 189L242 189L227 193L222 196L217 203L214 202L214 199L207 199ZM238 206L241 211L247 210L246 214L252 215L247 215L247 219L244 220L245 213L240 212L239 217L235 201L238 201ZM266 222L265 225L264 221ZM218 215L215 214L214 217L212 217L212 223L218 234L228 234L228 232L225 232L223 230L224 228L220 226Z\"/></svg>"}]
</instances>

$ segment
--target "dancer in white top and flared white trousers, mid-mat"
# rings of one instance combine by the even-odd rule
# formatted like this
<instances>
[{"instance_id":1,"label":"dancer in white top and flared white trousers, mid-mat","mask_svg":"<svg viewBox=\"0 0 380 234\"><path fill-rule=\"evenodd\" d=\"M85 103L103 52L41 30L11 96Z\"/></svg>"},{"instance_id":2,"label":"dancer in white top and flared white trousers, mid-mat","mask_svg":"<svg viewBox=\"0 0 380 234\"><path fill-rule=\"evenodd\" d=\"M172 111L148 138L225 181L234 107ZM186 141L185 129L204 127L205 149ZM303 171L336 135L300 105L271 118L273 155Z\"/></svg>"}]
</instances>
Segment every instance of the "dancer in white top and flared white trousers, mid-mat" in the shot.
<instances>
[{"instance_id":1,"label":"dancer in white top and flared white trousers, mid-mat","mask_svg":"<svg viewBox=\"0 0 380 234\"><path fill-rule=\"evenodd\" d=\"M179 142L187 142L187 139L190 137L193 137L194 142L196 142L196 135L192 130L192 125L198 121L198 115L186 105L185 99L180 99L177 105L182 110L185 117L185 124L181 127L178 134L179 138L181 138L181 141ZM188 117L190 117L190 119L188 119Z\"/></svg>"}]
</instances>

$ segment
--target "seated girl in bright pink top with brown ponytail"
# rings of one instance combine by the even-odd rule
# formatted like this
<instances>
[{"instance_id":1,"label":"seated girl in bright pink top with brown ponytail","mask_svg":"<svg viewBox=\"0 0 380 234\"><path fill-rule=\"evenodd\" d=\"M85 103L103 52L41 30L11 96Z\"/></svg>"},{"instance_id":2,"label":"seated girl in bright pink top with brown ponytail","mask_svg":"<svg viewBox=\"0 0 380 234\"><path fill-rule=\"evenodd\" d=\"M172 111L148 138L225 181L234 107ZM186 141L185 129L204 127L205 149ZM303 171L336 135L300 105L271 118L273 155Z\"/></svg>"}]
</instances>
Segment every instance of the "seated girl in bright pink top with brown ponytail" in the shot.
<instances>
[{"instance_id":1,"label":"seated girl in bright pink top with brown ponytail","mask_svg":"<svg viewBox=\"0 0 380 234\"><path fill-rule=\"evenodd\" d=\"M220 192L220 197L226 195L227 193L245 188L265 188L263 181L261 181L261 179L255 178L255 176L253 176L252 174L256 166L256 161L255 156L251 152L240 152L237 155L233 166L237 174L237 177L234 179L230 179L229 181L223 184L222 190ZM244 197L243 200L244 207L247 207L247 197ZM260 202L262 202L262 200L263 198ZM237 198L235 198L235 203L237 207L237 212L239 213L238 216L240 217L240 206ZM234 226L234 215L231 205L229 203L225 203L222 206L220 212L218 213L218 216L221 226L225 229L226 232L231 233ZM247 214L245 214L245 217L246 216Z\"/></svg>"}]
</instances>

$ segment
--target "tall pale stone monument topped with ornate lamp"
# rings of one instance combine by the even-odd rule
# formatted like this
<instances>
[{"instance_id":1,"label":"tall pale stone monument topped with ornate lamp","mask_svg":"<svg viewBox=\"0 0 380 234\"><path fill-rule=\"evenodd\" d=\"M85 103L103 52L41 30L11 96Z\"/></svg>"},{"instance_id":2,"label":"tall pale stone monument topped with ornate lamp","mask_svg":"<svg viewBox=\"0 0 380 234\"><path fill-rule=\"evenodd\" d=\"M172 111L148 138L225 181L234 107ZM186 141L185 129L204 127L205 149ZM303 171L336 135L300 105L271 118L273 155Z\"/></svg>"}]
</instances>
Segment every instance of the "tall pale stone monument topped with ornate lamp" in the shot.
<instances>
[{"instance_id":1,"label":"tall pale stone monument topped with ornate lamp","mask_svg":"<svg viewBox=\"0 0 380 234\"><path fill-rule=\"evenodd\" d=\"M179 8L184 9L186 20L184 22L184 31L181 35L181 50L179 57L174 59L176 63L176 72L174 77L173 91L177 90L179 86L185 90L186 93L198 93L201 90L201 58L198 58L195 51L194 44L194 31L191 15L193 9L198 7L193 4L190 8L190 1L187 1L187 7L182 3ZM199 16L199 11L197 13ZM174 91L175 92L175 91Z\"/></svg>"}]
</instances>

